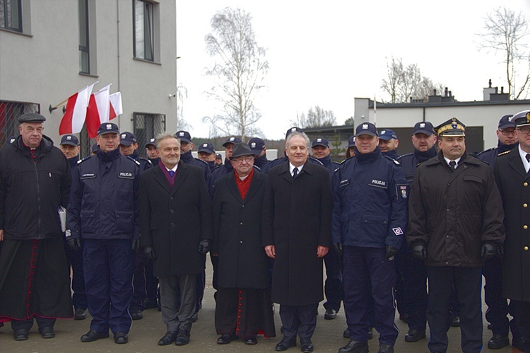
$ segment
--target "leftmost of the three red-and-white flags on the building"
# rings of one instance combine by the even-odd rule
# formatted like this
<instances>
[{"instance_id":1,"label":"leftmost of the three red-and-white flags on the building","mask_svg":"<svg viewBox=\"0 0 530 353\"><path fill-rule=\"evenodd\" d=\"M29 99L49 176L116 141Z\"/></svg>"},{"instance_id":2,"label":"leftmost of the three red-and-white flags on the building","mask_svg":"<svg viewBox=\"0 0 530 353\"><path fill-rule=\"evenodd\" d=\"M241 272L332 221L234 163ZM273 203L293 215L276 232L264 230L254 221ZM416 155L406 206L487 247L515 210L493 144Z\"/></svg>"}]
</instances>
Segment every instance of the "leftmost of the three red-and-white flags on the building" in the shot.
<instances>
[{"instance_id":1,"label":"leftmost of the three red-and-white flags on the building","mask_svg":"<svg viewBox=\"0 0 530 353\"><path fill-rule=\"evenodd\" d=\"M83 125L85 124L86 108L88 107L90 93L92 93L92 88L96 83L98 82L86 86L81 91L78 91L78 93L68 98L66 112L64 112L61 124L59 125L60 135L81 132L81 129L83 129Z\"/></svg>"}]
</instances>

